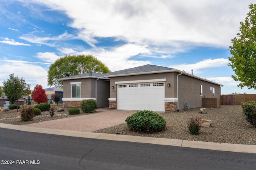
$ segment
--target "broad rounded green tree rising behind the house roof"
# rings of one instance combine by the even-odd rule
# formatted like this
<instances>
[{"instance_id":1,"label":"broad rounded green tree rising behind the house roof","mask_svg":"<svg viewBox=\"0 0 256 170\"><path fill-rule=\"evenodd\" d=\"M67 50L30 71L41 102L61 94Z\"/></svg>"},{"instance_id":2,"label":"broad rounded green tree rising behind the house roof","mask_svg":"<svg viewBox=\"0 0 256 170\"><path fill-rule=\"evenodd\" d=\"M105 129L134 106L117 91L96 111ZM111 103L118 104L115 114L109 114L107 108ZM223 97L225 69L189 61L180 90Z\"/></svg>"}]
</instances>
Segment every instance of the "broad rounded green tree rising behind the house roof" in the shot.
<instances>
[{"instance_id":1,"label":"broad rounded green tree rising behind the house roof","mask_svg":"<svg viewBox=\"0 0 256 170\"><path fill-rule=\"evenodd\" d=\"M50 65L48 70L48 85L62 87L62 81L58 80L66 75L74 76L87 72L108 73L109 68L92 55L68 55L62 57Z\"/></svg>"}]
</instances>

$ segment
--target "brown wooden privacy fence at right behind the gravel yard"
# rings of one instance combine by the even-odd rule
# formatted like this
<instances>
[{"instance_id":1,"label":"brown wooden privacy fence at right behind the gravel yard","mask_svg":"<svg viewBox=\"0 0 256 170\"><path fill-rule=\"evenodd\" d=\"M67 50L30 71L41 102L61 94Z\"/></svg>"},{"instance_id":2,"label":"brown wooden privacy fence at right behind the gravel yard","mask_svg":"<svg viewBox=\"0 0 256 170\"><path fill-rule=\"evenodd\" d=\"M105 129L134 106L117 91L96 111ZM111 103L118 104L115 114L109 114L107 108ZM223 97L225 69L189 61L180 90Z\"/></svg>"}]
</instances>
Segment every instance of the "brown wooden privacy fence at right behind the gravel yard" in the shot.
<instances>
[{"instance_id":1,"label":"brown wooden privacy fence at right behind the gravel yard","mask_svg":"<svg viewBox=\"0 0 256 170\"><path fill-rule=\"evenodd\" d=\"M222 105L240 105L241 102L250 101L256 101L256 94L233 94L220 96L220 104Z\"/></svg>"}]
</instances>

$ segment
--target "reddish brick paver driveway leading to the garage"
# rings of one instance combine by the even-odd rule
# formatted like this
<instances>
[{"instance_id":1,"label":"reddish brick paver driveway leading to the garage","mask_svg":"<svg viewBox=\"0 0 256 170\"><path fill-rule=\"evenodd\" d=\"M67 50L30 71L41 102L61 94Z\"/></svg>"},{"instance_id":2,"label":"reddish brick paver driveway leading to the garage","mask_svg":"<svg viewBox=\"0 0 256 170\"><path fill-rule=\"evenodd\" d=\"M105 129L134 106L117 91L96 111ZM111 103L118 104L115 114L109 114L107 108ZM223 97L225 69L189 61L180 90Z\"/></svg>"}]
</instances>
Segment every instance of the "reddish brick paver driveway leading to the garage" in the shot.
<instances>
[{"instance_id":1,"label":"reddish brick paver driveway leading to the garage","mask_svg":"<svg viewBox=\"0 0 256 170\"><path fill-rule=\"evenodd\" d=\"M100 108L97 109L97 111L100 112L90 115L82 115L76 117L68 117L64 119L56 119L51 121L43 121L40 123L33 123L24 126L93 132L99 129L104 129L106 127L111 127L125 123L126 117L136 112L124 110L109 110L108 108Z\"/></svg>"}]
</instances>

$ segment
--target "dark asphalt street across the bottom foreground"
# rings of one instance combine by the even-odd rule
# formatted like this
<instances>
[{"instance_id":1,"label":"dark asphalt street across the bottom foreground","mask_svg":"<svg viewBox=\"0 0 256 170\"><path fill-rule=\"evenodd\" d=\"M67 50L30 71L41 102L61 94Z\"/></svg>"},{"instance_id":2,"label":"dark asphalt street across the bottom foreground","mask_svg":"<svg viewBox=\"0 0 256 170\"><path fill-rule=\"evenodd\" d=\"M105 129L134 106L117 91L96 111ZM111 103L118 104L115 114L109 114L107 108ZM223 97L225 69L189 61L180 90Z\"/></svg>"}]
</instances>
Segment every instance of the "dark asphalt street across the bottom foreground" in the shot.
<instances>
[{"instance_id":1,"label":"dark asphalt street across the bottom foreground","mask_svg":"<svg viewBox=\"0 0 256 170\"><path fill-rule=\"evenodd\" d=\"M0 128L0 170L252 170L256 154Z\"/></svg>"}]
</instances>

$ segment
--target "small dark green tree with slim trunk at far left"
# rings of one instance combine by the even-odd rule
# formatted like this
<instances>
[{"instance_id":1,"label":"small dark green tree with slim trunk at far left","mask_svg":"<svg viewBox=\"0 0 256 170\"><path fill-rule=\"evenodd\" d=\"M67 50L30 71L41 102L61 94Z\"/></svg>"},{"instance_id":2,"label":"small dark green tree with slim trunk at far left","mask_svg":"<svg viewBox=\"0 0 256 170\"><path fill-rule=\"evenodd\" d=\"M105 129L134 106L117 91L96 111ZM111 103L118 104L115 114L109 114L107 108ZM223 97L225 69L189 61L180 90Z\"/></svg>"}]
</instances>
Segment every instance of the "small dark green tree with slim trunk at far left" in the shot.
<instances>
[{"instance_id":1,"label":"small dark green tree with slim trunk at far left","mask_svg":"<svg viewBox=\"0 0 256 170\"><path fill-rule=\"evenodd\" d=\"M18 112L18 99L22 96L30 94L30 84L26 84L25 79L14 77L14 73L10 74L10 78L3 81L4 93L8 100L13 104L17 102Z\"/></svg>"}]
</instances>

